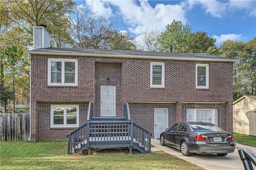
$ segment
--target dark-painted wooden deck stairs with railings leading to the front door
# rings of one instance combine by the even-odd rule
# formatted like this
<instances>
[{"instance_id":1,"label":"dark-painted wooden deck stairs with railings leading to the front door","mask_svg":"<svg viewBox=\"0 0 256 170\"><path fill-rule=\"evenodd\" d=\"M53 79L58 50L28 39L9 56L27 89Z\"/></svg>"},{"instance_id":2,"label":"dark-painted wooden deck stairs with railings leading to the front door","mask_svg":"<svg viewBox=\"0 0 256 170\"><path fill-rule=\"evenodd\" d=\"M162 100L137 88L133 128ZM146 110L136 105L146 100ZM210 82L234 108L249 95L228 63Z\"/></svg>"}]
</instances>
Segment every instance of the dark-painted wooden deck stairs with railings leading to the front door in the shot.
<instances>
[{"instance_id":1,"label":"dark-painted wooden deck stairs with railings leading to the front door","mask_svg":"<svg viewBox=\"0 0 256 170\"><path fill-rule=\"evenodd\" d=\"M93 117L89 103L87 121L67 134L68 154L92 148L132 148L142 153L151 152L151 133L131 121L129 104L124 104L124 117Z\"/></svg>"}]
</instances>

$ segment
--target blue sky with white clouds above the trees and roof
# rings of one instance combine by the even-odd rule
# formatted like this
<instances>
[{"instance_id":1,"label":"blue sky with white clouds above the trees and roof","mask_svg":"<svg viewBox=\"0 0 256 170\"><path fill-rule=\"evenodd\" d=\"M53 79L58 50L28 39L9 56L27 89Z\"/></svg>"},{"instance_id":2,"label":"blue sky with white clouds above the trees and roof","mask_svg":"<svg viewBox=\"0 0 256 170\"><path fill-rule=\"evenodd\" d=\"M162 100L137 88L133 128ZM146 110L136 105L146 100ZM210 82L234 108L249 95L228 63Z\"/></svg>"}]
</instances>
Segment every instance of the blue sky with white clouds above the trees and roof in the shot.
<instances>
[{"instance_id":1,"label":"blue sky with white clouds above the trees and roof","mask_svg":"<svg viewBox=\"0 0 256 170\"><path fill-rule=\"evenodd\" d=\"M219 46L227 39L247 42L256 36L256 1L76 1L93 12L112 18L118 30L135 37L146 27L165 30L174 19L188 22L193 32L202 30L217 39Z\"/></svg>"}]
</instances>

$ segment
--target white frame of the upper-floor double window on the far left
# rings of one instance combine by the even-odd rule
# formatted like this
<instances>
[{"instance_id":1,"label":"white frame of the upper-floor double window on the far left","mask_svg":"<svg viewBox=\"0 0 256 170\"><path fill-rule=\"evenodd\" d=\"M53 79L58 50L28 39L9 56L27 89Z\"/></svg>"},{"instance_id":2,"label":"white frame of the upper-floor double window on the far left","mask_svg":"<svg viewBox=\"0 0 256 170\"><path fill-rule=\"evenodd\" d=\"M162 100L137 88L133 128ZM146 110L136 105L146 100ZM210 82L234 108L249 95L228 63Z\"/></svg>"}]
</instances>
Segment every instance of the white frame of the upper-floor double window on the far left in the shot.
<instances>
[{"instance_id":1,"label":"white frame of the upper-floor double window on the far left","mask_svg":"<svg viewBox=\"0 0 256 170\"><path fill-rule=\"evenodd\" d=\"M61 62L61 83L51 82L51 62ZM75 83L65 83L65 62L75 62ZM77 86L78 60L67 58L48 58L48 86Z\"/></svg>"}]
</instances>

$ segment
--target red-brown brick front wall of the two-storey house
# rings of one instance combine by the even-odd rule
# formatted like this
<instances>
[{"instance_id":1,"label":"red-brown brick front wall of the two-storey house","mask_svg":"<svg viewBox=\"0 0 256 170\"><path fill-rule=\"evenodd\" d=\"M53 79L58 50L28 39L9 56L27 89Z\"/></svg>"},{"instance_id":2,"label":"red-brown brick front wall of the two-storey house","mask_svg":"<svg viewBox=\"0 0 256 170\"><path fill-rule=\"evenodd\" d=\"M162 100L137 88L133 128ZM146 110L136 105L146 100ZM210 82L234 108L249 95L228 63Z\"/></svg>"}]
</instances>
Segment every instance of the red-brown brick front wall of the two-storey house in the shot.
<instances>
[{"instance_id":1,"label":"red-brown brick front wall of the two-storey house","mask_svg":"<svg viewBox=\"0 0 256 170\"><path fill-rule=\"evenodd\" d=\"M47 58L77 58L78 86L47 86ZM165 88L150 88L150 62L165 63ZM196 63L209 64L209 89L195 88ZM100 116L101 85L116 86L117 116L123 115L123 104L129 102L132 120L152 133L154 108L160 106L169 108L170 126L186 120L186 108L218 108L219 125L232 131L232 62L31 55L31 140L66 139L71 131L50 129L50 105L53 103L78 103L80 124L87 116L85 103L93 102L94 115Z\"/></svg>"}]
</instances>

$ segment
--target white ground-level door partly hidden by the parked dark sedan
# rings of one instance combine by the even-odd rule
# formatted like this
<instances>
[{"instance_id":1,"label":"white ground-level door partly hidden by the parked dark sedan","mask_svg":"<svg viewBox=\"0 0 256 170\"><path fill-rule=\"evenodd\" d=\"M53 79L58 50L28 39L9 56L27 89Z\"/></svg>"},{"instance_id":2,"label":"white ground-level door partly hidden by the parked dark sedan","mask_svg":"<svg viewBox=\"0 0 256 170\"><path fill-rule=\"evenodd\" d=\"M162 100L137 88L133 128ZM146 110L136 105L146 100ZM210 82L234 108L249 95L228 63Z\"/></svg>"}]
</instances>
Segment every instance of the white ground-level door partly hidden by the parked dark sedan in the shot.
<instances>
[{"instance_id":1,"label":"white ground-level door partly hidden by the parked dark sedan","mask_svg":"<svg viewBox=\"0 0 256 170\"><path fill-rule=\"evenodd\" d=\"M168 128L168 108L155 108L155 138Z\"/></svg>"}]
</instances>

